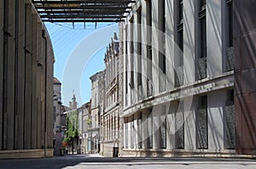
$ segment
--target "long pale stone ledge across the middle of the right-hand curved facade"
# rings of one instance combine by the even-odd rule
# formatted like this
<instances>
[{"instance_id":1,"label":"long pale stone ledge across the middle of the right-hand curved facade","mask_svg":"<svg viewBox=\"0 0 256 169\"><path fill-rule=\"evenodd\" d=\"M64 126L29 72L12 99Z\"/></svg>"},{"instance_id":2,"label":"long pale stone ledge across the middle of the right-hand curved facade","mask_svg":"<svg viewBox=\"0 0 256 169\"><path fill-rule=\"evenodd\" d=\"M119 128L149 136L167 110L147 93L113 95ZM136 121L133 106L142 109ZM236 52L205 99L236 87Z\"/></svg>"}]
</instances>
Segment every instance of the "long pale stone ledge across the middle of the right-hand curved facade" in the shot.
<instances>
[{"instance_id":1,"label":"long pale stone ledge across the middle of the right-hand curved facade","mask_svg":"<svg viewBox=\"0 0 256 169\"><path fill-rule=\"evenodd\" d=\"M181 87L175 87L171 90L155 94L150 98L128 105L124 108L123 112L121 112L120 117L132 115L137 111L153 107L157 104L163 104L183 98L191 99L194 95L210 93L229 87L234 87L234 71L225 72L220 76L207 77L189 85L185 84Z\"/></svg>"}]
</instances>

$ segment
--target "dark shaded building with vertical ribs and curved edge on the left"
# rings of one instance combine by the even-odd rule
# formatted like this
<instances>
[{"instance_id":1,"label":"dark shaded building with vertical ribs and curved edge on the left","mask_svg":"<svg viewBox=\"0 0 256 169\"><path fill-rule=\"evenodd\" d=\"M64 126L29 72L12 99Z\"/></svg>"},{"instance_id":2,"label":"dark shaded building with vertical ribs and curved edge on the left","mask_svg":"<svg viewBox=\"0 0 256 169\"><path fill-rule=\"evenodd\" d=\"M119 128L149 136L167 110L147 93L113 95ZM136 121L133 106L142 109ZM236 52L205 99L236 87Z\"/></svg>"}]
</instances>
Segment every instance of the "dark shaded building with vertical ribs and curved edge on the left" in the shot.
<instances>
[{"instance_id":1,"label":"dark shaded building with vertical ribs and curved edge on the left","mask_svg":"<svg viewBox=\"0 0 256 169\"><path fill-rule=\"evenodd\" d=\"M0 158L53 155L49 34L28 0L0 1Z\"/></svg>"}]
</instances>

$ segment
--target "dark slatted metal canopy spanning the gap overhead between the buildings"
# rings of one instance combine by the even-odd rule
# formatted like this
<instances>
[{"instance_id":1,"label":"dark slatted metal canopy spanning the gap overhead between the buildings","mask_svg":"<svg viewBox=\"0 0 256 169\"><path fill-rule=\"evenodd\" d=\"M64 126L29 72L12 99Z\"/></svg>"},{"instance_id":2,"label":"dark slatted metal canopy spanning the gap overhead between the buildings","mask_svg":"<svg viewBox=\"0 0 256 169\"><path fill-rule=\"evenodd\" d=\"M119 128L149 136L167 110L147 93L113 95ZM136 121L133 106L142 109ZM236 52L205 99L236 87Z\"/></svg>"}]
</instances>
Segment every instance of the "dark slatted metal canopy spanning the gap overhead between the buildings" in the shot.
<instances>
[{"instance_id":1,"label":"dark slatted metal canopy spanning the gap overhead between the buildings","mask_svg":"<svg viewBox=\"0 0 256 169\"><path fill-rule=\"evenodd\" d=\"M120 22L132 0L33 0L44 22Z\"/></svg>"}]
</instances>

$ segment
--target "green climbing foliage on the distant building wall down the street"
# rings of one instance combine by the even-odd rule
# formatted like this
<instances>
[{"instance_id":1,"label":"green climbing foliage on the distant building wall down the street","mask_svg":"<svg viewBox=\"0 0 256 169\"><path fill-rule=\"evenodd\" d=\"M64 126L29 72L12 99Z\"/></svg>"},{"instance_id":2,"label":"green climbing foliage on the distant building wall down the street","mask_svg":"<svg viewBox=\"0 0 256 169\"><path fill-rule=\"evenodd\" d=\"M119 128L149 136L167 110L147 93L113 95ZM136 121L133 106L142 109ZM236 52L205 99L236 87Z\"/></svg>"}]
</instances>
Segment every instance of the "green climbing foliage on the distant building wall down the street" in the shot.
<instances>
[{"instance_id":1,"label":"green climbing foliage on the distant building wall down the street","mask_svg":"<svg viewBox=\"0 0 256 169\"><path fill-rule=\"evenodd\" d=\"M79 137L78 125L77 110L67 113L67 131L64 140L67 141L68 144L72 143L74 138Z\"/></svg>"}]
</instances>

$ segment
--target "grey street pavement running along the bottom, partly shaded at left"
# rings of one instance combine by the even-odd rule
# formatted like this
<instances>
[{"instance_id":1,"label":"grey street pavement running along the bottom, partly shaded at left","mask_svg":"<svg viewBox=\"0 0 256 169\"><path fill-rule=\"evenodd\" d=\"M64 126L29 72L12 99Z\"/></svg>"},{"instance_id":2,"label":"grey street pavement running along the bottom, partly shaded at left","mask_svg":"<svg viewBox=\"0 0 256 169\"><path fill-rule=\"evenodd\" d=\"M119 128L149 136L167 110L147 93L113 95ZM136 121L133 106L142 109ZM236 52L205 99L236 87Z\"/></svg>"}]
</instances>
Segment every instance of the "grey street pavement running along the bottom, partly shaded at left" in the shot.
<instances>
[{"instance_id":1,"label":"grey street pavement running along the bottom, partly shaded at left","mask_svg":"<svg viewBox=\"0 0 256 169\"><path fill-rule=\"evenodd\" d=\"M0 160L1 169L29 168L246 168L256 169L256 160L213 158L108 158L99 155L67 155L47 159Z\"/></svg>"}]
</instances>

